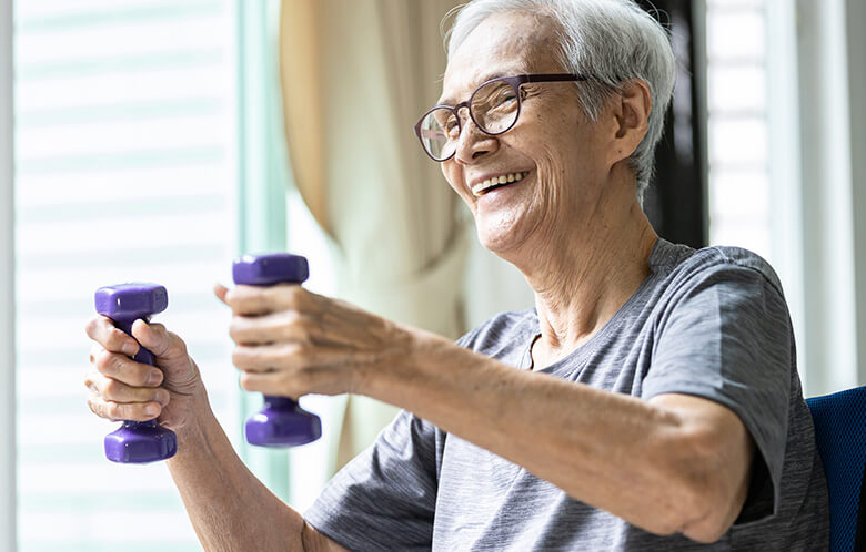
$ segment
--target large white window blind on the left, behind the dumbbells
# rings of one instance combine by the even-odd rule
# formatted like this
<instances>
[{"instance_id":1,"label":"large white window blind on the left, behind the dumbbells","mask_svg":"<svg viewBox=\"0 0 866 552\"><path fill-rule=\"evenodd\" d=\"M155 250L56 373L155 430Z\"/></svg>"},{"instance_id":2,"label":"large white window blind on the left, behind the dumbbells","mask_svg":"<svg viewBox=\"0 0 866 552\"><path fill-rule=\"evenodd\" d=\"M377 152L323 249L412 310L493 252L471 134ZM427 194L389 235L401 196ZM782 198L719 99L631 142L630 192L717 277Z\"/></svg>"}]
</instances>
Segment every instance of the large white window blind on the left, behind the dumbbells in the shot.
<instances>
[{"instance_id":1,"label":"large white window blind on the left, behind the dumbbells","mask_svg":"<svg viewBox=\"0 0 866 552\"><path fill-rule=\"evenodd\" d=\"M164 464L104 459L83 326L102 285L167 286L230 437L236 209L231 0L27 0L14 11L19 546L199 550Z\"/></svg>"}]
</instances>

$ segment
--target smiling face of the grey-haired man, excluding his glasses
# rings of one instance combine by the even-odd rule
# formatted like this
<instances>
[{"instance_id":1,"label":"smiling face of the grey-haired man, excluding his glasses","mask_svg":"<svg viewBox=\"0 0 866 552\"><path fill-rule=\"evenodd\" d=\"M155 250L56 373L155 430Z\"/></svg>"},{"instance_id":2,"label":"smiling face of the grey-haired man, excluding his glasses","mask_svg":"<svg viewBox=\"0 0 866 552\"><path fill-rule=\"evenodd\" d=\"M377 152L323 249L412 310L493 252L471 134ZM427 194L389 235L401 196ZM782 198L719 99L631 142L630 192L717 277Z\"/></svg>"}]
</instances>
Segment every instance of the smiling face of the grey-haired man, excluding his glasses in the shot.
<instances>
[{"instance_id":1,"label":"smiling face of the grey-haired man, excluding his glasses","mask_svg":"<svg viewBox=\"0 0 866 552\"><path fill-rule=\"evenodd\" d=\"M465 101L496 76L562 73L555 51L545 20L518 12L490 17L453 52L439 103ZM464 123L456 154L442 163L475 218L480 242L501 256L556 243L588 223L612 165L615 131L585 117L574 83L524 84L521 105L517 123L504 134L485 135ZM487 188L502 176L506 185Z\"/></svg>"}]
</instances>

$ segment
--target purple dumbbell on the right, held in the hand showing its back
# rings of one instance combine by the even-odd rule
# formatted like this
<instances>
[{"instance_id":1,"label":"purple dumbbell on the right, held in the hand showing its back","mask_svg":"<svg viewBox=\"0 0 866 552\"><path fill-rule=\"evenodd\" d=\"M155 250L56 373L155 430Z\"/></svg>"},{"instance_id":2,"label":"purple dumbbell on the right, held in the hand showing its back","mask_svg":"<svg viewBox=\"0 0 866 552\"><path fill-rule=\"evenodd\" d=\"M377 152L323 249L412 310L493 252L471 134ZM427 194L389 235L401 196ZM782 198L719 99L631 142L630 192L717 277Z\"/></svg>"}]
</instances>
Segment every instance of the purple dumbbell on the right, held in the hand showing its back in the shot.
<instances>
[{"instance_id":1,"label":"purple dumbbell on the right, held in the hand showing its back","mask_svg":"<svg viewBox=\"0 0 866 552\"><path fill-rule=\"evenodd\" d=\"M234 283L246 286L301 284L310 272L300 255L244 255L234 260ZM286 397L264 396L264 408L246 420L246 442L259 447L294 447L322 437L318 416Z\"/></svg>"}]
</instances>

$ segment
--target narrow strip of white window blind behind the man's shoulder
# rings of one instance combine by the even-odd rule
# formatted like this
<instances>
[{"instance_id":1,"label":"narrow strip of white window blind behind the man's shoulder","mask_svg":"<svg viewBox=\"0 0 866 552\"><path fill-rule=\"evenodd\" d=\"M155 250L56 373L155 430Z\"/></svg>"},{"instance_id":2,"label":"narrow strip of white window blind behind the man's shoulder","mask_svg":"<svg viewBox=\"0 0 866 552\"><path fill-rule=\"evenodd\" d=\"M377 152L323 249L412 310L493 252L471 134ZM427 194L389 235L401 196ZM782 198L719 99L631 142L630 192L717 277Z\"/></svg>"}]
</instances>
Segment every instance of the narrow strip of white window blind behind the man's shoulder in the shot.
<instances>
[{"instance_id":1,"label":"narrow strip of white window blind behind the man's shoulder","mask_svg":"<svg viewBox=\"0 0 866 552\"><path fill-rule=\"evenodd\" d=\"M772 257L764 0L707 0L709 242Z\"/></svg>"}]
</instances>

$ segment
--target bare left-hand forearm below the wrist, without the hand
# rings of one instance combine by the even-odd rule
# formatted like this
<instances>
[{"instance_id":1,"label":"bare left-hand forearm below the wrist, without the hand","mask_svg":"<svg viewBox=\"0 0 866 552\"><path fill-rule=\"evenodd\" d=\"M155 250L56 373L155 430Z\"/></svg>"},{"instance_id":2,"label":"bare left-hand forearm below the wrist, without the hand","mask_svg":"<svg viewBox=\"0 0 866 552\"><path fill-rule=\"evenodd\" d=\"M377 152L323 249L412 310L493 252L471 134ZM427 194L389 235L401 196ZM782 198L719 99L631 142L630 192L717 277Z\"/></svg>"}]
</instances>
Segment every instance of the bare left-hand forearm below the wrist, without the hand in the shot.
<instances>
[{"instance_id":1,"label":"bare left-hand forearm below the wrist, without the hand","mask_svg":"<svg viewBox=\"0 0 866 552\"><path fill-rule=\"evenodd\" d=\"M210 408L178 431L168 466L205 550L303 550L303 518L246 469Z\"/></svg>"}]
</instances>

